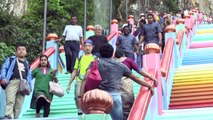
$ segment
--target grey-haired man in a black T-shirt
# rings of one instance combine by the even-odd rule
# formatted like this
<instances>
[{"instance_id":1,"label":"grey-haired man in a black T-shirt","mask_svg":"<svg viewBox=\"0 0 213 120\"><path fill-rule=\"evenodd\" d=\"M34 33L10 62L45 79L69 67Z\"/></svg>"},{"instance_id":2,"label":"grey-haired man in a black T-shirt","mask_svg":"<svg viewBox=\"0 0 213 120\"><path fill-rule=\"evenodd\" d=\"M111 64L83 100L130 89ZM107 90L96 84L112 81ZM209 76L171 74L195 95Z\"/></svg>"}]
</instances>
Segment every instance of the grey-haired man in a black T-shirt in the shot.
<instances>
[{"instance_id":1,"label":"grey-haired man in a black T-shirt","mask_svg":"<svg viewBox=\"0 0 213 120\"><path fill-rule=\"evenodd\" d=\"M92 40L94 44L94 48L92 49L92 54L100 57L99 49L102 45L108 43L108 40L106 36L101 35L102 33L102 27L100 25L95 25L95 35L89 37L88 39Z\"/></svg>"}]
</instances>

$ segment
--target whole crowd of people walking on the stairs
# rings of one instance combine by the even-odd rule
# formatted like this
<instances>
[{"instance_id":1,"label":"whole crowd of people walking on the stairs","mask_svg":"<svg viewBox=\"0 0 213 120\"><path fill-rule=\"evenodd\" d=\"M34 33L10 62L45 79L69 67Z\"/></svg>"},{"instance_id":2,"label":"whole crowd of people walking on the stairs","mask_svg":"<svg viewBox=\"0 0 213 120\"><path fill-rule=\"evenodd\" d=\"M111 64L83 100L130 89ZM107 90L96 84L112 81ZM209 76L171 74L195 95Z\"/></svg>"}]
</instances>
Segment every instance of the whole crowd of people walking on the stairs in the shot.
<instances>
[{"instance_id":1,"label":"whole crowd of people walking on the stairs","mask_svg":"<svg viewBox=\"0 0 213 120\"><path fill-rule=\"evenodd\" d=\"M84 94L85 76L91 68L94 60L98 60L98 70L102 81L98 89L106 91L113 99L113 109L110 113L113 120L126 120L134 103L133 83L143 85L154 93L150 84L132 73L135 70L140 75L154 81L155 87L158 80L143 69L142 56L143 48L154 43L164 48L164 28L178 18L183 18L187 12L177 11L176 14L162 13L149 10L148 13L140 14L136 25L130 24L127 20L121 24L122 34L116 41L116 49L108 43L106 36L102 35L102 26L95 25L94 35L83 40L82 27L77 25L77 16L71 16L70 24L66 25L62 37L58 41L65 40L64 50L66 56L66 74L71 74L67 85L67 93L70 92L71 84L75 82L75 101L78 115L83 112L80 107L80 100ZM199 16L199 15L198 15ZM199 18L199 17L198 17ZM211 23L211 17L202 17L205 23ZM208 20L207 20L208 19ZM83 55L79 55L80 46L83 47ZM25 56L26 46L16 46L16 55L8 57L1 69L0 83L6 92L6 107L4 119L18 119L24 94L19 92L21 76L31 85L32 78L35 78L33 99L31 108L36 109L35 116L40 117L40 109L44 109L43 117L48 117L53 94L49 93L49 82L57 82L52 74L55 72L48 62L48 57L40 56L40 62L32 72Z\"/></svg>"}]
</instances>

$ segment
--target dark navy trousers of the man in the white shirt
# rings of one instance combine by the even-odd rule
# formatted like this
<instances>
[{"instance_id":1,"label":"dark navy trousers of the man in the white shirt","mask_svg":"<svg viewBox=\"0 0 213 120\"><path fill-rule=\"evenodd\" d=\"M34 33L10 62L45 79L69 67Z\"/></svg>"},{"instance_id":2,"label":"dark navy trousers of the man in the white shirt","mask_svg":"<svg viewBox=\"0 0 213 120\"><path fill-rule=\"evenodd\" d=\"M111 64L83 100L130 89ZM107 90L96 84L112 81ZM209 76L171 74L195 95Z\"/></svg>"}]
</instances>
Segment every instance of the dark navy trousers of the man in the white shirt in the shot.
<instances>
[{"instance_id":1,"label":"dark navy trousers of the man in the white shirt","mask_svg":"<svg viewBox=\"0 0 213 120\"><path fill-rule=\"evenodd\" d=\"M77 41L67 41L64 45L65 56L66 56L66 67L67 72L73 71L75 60L78 57L80 51L80 42Z\"/></svg>"}]
</instances>

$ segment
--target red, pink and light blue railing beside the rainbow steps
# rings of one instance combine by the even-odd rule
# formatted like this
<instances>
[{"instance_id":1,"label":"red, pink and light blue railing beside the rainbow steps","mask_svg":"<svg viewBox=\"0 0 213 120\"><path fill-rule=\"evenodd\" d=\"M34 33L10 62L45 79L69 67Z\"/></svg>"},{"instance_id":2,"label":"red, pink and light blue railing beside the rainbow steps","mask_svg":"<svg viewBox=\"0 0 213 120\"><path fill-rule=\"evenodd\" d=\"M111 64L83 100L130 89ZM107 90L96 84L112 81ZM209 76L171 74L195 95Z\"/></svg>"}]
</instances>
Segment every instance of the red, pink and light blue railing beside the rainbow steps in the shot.
<instances>
[{"instance_id":1,"label":"red, pink and light blue railing beside the rainbow steps","mask_svg":"<svg viewBox=\"0 0 213 120\"><path fill-rule=\"evenodd\" d=\"M184 53L187 48L189 48L192 41L192 35L194 35L193 29L196 22L192 24L190 17L193 16L189 16L189 18L185 19L182 23L177 23L174 31L169 31L165 34L166 46L164 48L161 63L162 66L160 67L160 75L157 74L157 66L154 67L154 69L151 67L153 66L153 63L158 63L158 59L153 58L155 58L155 55L159 55L149 54L144 56L143 60L148 61L144 64L148 68L148 72L157 77L160 82L158 88L155 90L156 94L153 96L150 95L149 91L146 91L141 87L130 112L129 120L154 120L158 115L162 115L163 109L168 109L175 68L182 65ZM191 25L193 25L192 28ZM187 29L185 29L186 26L188 26ZM152 81L147 81L153 85Z\"/></svg>"}]
</instances>

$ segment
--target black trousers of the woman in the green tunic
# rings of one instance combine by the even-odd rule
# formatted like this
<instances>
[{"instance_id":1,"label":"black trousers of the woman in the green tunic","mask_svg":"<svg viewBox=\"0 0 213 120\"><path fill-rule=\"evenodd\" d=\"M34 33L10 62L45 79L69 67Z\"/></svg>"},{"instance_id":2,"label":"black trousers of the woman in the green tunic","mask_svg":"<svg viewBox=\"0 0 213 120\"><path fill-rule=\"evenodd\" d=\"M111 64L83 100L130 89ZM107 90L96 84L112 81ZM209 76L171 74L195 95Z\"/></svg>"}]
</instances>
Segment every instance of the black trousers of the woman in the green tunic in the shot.
<instances>
[{"instance_id":1,"label":"black trousers of the woman in the green tunic","mask_svg":"<svg viewBox=\"0 0 213 120\"><path fill-rule=\"evenodd\" d=\"M50 114L50 103L45 98L40 97L36 101L36 113L40 113L42 107L44 108L43 117L48 117Z\"/></svg>"}]
</instances>

